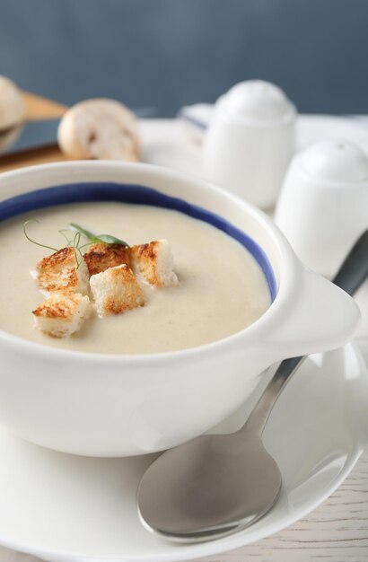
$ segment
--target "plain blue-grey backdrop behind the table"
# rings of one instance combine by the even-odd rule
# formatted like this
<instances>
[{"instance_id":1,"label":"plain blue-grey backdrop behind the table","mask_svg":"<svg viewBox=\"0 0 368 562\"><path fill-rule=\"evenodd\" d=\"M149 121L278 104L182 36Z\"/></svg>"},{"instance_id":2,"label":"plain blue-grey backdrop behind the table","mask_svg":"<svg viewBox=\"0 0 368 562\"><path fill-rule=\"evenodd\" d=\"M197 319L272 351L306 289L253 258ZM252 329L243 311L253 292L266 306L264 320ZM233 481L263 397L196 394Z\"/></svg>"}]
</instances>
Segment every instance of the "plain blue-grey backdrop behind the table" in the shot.
<instances>
[{"instance_id":1,"label":"plain blue-grey backdrop behind the table","mask_svg":"<svg viewBox=\"0 0 368 562\"><path fill-rule=\"evenodd\" d=\"M72 104L171 116L233 83L304 112L368 112L368 0L0 0L0 74Z\"/></svg>"}]
</instances>

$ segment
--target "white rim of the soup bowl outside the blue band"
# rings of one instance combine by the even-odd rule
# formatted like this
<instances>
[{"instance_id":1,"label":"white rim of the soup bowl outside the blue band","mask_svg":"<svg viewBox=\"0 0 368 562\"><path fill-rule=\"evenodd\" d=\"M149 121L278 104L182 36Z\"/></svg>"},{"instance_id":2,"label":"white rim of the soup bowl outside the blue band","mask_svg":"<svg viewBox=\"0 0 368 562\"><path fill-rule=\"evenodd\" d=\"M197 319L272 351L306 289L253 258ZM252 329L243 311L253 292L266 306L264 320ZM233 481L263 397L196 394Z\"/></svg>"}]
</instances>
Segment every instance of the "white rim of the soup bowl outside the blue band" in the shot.
<instances>
[{"instance_id":1,"label":"white rim of the soup bowl outside the blue band","mask_svg":"<svg viewBox=\"0 0 368 562\"><path fill-rule=\"evenodd\" d=\"M231 192L217 187L215 184L202 180L192 174L187 174L181 171L174 171L170 168L164 168L162 166L147 164L144 162L107 162L107 161L72 161L72 162L52 162L46 164L38 164L34 166L26 166L24 168L4 171L0 174L0 197L3 189L4 180L17 180L28 176L38 176L40 180L47 176L48 172L51 174L57 174L58 171L90 171L99 170L114 172L116 170L119 173L124 173L124 171L132 171L133 173L140 174L142 179L148 179L150 176L155 178L166 178L173 181L187 182L192 186L201 189L202 191L207 191L207 193L216 193L220 197L227 198L230 200L232 205L238 206L246 214L254 218L258 224L262 226L267 236L272 239L276 251L278 253L279 261L282 264L280 268L280 274L277 279L277 293L273 303L267 308L256 321L252 322L250 326L241 329L226 338L217 339L215 341L209 342L204 345L199 345L196 347L188 347L185 349L178 349L173 351L149 353L149 354L104 354L104 353L92 353L71 349L58 349L57 347L51 347L48 345L39 344L28 340L26 338L21 338L20 336L15 336L4 329L0 329L0 344L3 340L6 347L16 347L17 352L21 350L24 353L29 353L32 356L42 356L45 358L48 356L50 359L66 360L66 358L73 360L77 363L92 362L93 364L161 364L162 362L167 364L168 361L175 361L180 359L195 359L197 356L206 356L210 354L214 356L214 353L222 354L223 351L233 349L232 346L238 347L239 342L244 341L244 338L256 338L260 334L262 328L267 326L269 321L273 323L280 318L283 314L284 304L290 300L291 296L295 294L295 287L293 287L293 279L296 274L296 269L298 268L298 259L296 258L294 251L292 250L289 242L286 240L285 235L277 228L276 224L273 223L270 217L263 213L258 207L248 203L247 201L241 199L240 197L232 194ZM121 178L123 180L123 178ZM54 180L50 180L50 185L48 187L54 187ZM89 180L85 180L88 183ZM106 180L108 181L108 180ZM69 179L64 179L65 183L76 182L73 175L70 175ZM118 182L118 180L117 180ZM144 185L144 184L143 184ZM149 185L149 184L148 184ZM39 188L45 189L45 188ZM156 189L156 188L154 188ZM30 189L22 191L22 193L29 193L37 189ZM0 198L0 204L2 201L6 200ZM206 209L206 205L203 206ZM208 209L207 209L208 210ZM241 227L238 227L241 229ZM265 251L265 250L264 250ZM267 252L265 252L267 255Z\"/></svg>"}]
</instances>

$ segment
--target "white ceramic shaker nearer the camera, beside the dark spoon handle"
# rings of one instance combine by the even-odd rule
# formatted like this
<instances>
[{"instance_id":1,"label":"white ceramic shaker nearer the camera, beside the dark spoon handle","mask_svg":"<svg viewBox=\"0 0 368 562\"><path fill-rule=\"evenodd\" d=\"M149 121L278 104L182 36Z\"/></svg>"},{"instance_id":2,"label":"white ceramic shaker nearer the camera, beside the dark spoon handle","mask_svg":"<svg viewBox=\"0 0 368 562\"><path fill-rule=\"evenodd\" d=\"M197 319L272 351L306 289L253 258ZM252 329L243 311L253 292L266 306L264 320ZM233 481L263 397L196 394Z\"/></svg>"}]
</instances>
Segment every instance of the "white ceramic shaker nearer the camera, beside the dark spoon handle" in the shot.
<instances>
[{"instance_id":1,"label":"white ceramic shaker nearer the camera, beside the dark spoon handle","mask_svg":"<svg viewBox=\"0 0 368 562\"><path fill-rule=\"evenodd\" d=\"M276 206L275 222L311 269L333 277L368 228L368 156L347 141L325 141L294 156ZM359 290L368 343L368 282Z\"/></svg>"}]
</instances>

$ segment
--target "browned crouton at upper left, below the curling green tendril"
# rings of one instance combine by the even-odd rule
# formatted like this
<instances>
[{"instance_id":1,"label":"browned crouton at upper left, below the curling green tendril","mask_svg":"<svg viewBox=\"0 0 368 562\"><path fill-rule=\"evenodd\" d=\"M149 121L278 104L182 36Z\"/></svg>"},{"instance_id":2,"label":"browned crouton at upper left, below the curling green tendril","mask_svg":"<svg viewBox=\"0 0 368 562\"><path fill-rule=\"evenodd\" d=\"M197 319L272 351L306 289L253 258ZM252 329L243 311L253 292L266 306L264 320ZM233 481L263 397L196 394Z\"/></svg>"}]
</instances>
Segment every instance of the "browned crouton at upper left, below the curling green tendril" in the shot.
<instances>
[{"instance_id":1,"label":"browned crouton at upper left, below the curling green tendril","mask_svg":"<svg viewBox=\"0 0 368 562\"><path fill-rule=\"evenodd\" d=\"M37 281L39 289L53 291L73 291L88 293L88 268L80 259L76 263L74 249L67 246L54 254L41 259L37 264Z\"/></svg>"}]
</instances>

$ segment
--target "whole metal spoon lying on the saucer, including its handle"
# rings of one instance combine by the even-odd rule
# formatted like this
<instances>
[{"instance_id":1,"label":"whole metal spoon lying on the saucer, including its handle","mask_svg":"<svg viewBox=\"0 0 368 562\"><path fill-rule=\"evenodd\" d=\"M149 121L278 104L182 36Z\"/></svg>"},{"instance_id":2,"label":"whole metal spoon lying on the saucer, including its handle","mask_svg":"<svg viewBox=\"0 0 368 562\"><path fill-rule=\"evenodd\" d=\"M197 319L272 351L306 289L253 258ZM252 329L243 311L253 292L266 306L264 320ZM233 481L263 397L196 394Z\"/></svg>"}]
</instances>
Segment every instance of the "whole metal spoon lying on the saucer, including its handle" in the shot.
<instances>
[{"instance_id":1,"label":"whole metal spoon lying on the saucer, including its handle","mask_svg":"<svg viewBox=\"0 0 368 562\"><path fill-rule=\"evenodd\" d=\"M368 230L355 243L334 283L354 294L368 276ZM178 542L231 534L272 507L282 477L262 443L275 402L304 357L285 359L247 422L232 435L203 435L164 452L137 491L145 527Z\"/></svg>"}]
</instances>

